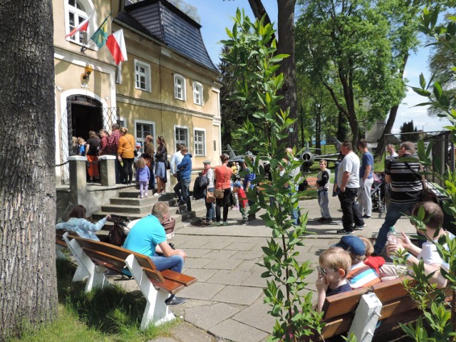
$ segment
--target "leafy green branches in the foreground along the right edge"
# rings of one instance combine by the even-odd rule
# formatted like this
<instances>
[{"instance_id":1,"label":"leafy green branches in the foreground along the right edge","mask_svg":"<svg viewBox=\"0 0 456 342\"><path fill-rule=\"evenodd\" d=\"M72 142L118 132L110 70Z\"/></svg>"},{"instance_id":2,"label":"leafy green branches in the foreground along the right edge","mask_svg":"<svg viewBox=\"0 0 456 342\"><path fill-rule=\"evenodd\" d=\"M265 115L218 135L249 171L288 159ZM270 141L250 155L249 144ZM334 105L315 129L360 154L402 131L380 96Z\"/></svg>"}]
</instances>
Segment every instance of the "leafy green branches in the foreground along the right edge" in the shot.
<instances>
[{"instance_id":1,"label":"leafy green branches in the foreground along the right edge","mask_svg":"<svg viewBox=\"0 0 456 342\"><path fill-rule=\"evenodd\" d=\"M438 17L438 9L424 9L418 29L431 37L434 44L445 46L448 50L456 53L456 17L450 16L447 23L437 25ZM452 67L452 71L456 71L456 68ZM447 126L447 129L452 132L452 141L456 142L456 110L452 108L448 94L442 90L439 81L426 83L422 74L420 86L414 87L413 90L427 98L427 102L422 103L422 105L433 105L435 108L439 108L442 111L439 115L450 120L452 125ZM436 163L436 169L432 170L431 150L432 144L425 150L424 142L418 142L420 161L427 167L428 172L432 172L432 175L445 185L445 187L440 187L435 184L435 187L450 199L450 201L443 202L443 208L447 214L456 218L456 171L450 167L447 170L440 170L440 163ZM418 212L418 217L413 217L415 225L419 229L423 229L423 224L425 224L423 217L423 212ZM426 310L424 320L430 326L430 332L423 328L423 319L418 320L415 324L403 326L403 329L414 341L456 341L456 240L440 237L438 242L433 243L442 259L449 264L448 271L442 269L441 274L447 279L447 289L450 289L452 302L450 306L447 306L445 303L447 294L443 290L436 290L435 287L428 284L427 280L430 275L425 274L423 263L420 263L413 269L413 278L418 285L408 286L407 283L405 285L408 286L408 291L417 301L419 308L423 311ZM447 248L444 247L445 244Z\"/></svg>"}]
</instances>

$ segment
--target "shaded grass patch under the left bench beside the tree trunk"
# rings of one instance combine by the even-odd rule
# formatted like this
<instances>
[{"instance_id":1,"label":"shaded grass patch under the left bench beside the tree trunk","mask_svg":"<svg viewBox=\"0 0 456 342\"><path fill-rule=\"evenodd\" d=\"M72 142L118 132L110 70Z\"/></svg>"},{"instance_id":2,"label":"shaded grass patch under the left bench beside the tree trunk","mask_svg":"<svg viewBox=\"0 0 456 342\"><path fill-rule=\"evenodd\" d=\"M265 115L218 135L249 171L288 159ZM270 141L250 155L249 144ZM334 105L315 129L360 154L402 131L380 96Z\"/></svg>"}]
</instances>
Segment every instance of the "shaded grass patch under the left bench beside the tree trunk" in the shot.
<instances>
[{"instance_id":1,"label":"shaded grass patch under the left bench beside the tree trunk","mask_svg":"<svg viewBox=\"0 0 456 342\"><path fill-rule=\"evenodd\" d=\"M167 335L178 321L140 331L146 301L139 291L108 286L86 294L83 282L72 282L75 271L69 260L57 260L58 318L8 342L144 342Z\"/></svg>"}]
</instances>

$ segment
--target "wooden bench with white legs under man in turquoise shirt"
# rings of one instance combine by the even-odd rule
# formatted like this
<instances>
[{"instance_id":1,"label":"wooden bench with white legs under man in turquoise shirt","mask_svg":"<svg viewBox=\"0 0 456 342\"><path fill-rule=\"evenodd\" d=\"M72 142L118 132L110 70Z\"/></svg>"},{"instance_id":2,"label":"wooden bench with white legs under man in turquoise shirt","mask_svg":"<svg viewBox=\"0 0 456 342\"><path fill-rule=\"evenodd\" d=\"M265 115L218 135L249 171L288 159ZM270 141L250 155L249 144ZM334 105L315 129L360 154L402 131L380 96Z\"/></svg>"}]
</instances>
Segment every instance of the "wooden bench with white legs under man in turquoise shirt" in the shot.
<instances>
[{"instance_id":1,"label":"wooden bench with white legs under man in turquoise shirt","mask_svg":"<svg viewBox=\"0 0 456 342\"><path fill-rule=\"evenodd\" d=\"M128 274L125 271L130 271L147 300L142 330L150 323L157 326L174 319L165 299L197 281L192 276L175 271L158 271L149 257L113 244L83 239L68 232L63 234L63 240L78 262L73 281L81 281L88 276L86 291L108 284L104 274L107 269L123 275Z\"/></svg>"}]
</instances>

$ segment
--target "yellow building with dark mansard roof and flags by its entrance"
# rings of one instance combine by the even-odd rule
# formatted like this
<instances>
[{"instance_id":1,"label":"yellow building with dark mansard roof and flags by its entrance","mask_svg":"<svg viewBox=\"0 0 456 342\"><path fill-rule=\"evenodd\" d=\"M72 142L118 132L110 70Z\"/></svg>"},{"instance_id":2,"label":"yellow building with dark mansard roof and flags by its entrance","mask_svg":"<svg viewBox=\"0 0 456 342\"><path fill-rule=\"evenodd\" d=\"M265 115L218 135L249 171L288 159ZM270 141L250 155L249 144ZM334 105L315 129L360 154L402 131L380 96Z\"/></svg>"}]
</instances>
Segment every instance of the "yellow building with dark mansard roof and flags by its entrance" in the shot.
<instances>
[{"instance_id":1,"label":"yellow building with dark mansard roof and flags by its entrance","mask_svg":"<svg viewBox=\"0 0 456 342\"><path fill-rule=\"evenodd\" d=\"M73 136L110 132L115 122L138 142L162 135L168 155L185 143L194 168L218 162L222 85L201 26L166 0L124 1L53 1L56 163L71 155ZM106 46L90 41L107 17L108 35L123 29L125 36L128 61L119 66ZM88 33L66 36L86 19ZM68 183L66 165L56 172L59 184Z\"/></svg>"}]
</instances>

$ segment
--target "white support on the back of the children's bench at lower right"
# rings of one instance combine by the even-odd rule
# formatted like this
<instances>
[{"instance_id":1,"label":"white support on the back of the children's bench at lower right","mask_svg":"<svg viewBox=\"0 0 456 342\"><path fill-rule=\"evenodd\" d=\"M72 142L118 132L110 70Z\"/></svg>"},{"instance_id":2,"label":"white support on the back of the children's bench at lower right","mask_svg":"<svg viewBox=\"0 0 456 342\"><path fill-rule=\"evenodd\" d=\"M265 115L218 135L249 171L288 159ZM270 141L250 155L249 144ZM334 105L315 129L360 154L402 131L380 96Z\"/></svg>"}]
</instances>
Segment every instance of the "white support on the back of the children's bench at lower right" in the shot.
<instances>
[{"instance_id":1,"label":"white support on the back of the children's bench at lower right","mask_svg":"<svg viewBox=\"0 0 456 342\"><path fill-rule=\"evenodd\" d=\"M382 303L373 292L361 296L348 333L353 332L358 342L371 342L381 309Z\"/></svg>"}]
</instances>

